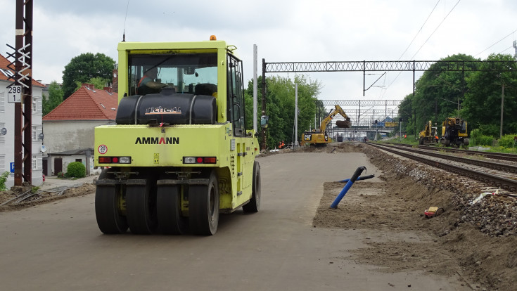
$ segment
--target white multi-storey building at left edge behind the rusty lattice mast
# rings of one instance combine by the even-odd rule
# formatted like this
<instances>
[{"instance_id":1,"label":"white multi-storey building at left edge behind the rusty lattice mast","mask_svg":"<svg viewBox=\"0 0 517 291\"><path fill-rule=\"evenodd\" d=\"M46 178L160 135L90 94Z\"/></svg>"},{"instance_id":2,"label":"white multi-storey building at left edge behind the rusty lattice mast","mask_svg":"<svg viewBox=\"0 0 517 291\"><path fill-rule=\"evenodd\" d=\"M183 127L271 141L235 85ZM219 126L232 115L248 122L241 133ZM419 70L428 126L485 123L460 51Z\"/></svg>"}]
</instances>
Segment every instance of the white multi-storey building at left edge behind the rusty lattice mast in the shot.
<instances>
[{"instance_id":1,"label":"white multi-storey building at left edge behind the rusty lattice mast","mask_svg":"<svg viewBox=\"0 0 517 291\"><path fill-rule=\"evenodd\" d=\"M7 98L8 77L14 72L7 68L9 62L0 55L0 174L11 172L6 186L14 185L14 105ZM32 185L43 183L42 145L42 91L45 86L32 80ZM24 141L27 145L27 141ZM23 172L23 171L22 171Z\"/></svg>"}]
</instances>

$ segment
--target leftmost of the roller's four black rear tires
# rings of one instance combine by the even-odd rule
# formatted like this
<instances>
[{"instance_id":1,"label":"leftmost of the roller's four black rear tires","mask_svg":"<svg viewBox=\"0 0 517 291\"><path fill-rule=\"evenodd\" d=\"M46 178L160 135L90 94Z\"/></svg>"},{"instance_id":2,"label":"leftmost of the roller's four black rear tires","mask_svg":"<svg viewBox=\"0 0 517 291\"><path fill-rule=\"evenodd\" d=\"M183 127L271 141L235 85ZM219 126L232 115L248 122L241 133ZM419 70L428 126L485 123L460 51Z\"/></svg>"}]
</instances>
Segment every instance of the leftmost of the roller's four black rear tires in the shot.
<instances>
[{"instance_id":1,"label":"leftmost of the roller's four black rear tires","mask_svg":"<svg viewBox=\"0 0 517 291\"><path fill-rule=\"evenodd\" d=\"M98 229L106 234L127 231L126 217L120 211L122 193L119 186L97 186L95 190L95 216Z\"/></svg>"}]
</instances>

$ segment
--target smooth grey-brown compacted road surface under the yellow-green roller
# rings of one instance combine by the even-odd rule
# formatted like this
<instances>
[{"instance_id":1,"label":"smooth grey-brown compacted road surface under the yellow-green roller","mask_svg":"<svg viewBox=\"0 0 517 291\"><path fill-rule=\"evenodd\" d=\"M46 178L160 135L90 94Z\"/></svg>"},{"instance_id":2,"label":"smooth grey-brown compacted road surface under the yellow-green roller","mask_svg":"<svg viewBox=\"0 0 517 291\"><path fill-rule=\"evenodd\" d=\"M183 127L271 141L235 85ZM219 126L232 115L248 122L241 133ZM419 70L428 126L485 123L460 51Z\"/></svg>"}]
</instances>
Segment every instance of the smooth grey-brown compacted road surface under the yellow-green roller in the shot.
<instances>
[{"instance_id":1,"label":"smooth grey-brown compacted road surface under the yellow-green roller","mask_svg":"<svg viewBox=\"0 0 517 291\"><path fill-rule=\"evenodd\" d=\"M0 213L0 289L467 290L455 274L386 273L347 259L372 231L312 227L324 181L362 165L381 174L362 153L259 162L261 211L222 215L210 237L103 235L94 193Z\"/></svg>"}]
</instances>

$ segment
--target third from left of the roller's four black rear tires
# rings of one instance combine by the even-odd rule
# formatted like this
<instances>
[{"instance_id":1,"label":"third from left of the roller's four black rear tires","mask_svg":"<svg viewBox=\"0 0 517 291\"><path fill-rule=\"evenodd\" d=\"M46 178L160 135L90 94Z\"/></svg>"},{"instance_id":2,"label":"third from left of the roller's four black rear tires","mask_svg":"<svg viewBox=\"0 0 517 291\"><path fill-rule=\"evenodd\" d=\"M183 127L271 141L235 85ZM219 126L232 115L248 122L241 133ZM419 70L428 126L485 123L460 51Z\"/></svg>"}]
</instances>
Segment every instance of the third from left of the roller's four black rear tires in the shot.
<instances>
[{"instance_id":1,"label":"third from left of the roller's four black rear tires","mask_svg":"<svg viewBox=\"0 0 517 291\"><path fill-rule=\"evenodd\" d=\"M186 217L181 216L180 189L179 185L158 186L156 191L158 229L163 234L179 235L188 228Z\"/></svg>"}]
</instances>

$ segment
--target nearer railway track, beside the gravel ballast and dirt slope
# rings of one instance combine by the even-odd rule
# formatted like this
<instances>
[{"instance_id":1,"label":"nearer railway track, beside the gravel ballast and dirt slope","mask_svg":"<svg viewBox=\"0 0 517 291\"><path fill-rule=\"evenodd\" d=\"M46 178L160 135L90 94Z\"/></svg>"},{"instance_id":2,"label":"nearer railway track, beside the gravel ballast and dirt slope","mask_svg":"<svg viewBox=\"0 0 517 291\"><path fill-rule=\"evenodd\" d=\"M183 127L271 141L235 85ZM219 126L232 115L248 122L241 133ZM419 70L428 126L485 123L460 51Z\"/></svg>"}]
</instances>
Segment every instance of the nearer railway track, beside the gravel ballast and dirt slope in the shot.
<instances>
[{"instance_id":1,"label":"nearer railway track, beside the gravel ballast and dirt slope","mask_svg":"<svg viewBox=\"0 0 517 291\"><path fill-rule=\"evenodd\" d=\"M517 197L517 166L503 164L502 162L490 162L485 160L469 159L457 155L445 155L436 153L432 147L413 148L405 145L369 143L376 148L381 148L390 153L407 157L417 162L428 164L432 167L444 169L447 172L466 176L470 179L481 181L487 186L501 188L513 192L506 193L511 197ZM441 148L440 148L441 149ZM479 152L476 152L478 154ZM494 157L490 157L494 159ZM499 159L506 157L499 157Z\"/></svg>"}]
</instances>

